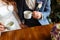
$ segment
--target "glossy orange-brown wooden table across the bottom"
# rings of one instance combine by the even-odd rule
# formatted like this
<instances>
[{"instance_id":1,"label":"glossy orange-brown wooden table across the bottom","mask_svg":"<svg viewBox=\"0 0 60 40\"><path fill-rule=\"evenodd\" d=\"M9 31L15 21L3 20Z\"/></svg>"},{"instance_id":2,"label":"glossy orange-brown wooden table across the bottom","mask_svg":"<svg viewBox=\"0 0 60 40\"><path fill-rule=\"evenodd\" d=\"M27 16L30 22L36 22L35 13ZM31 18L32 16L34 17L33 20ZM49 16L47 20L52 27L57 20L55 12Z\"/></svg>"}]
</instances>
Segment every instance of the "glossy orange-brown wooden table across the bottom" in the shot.
<instances>
[{"instance_id":1,"label":"glossy orange-brown wooden table across the bottom","mask_svg":"<svg viewBox=\"0 0 60 40\"><path fill-rule=\"evenodd\" d=\"M53 24L36 26L2 33L0 40L51 40Z\"/></svg>"}]
</instances>

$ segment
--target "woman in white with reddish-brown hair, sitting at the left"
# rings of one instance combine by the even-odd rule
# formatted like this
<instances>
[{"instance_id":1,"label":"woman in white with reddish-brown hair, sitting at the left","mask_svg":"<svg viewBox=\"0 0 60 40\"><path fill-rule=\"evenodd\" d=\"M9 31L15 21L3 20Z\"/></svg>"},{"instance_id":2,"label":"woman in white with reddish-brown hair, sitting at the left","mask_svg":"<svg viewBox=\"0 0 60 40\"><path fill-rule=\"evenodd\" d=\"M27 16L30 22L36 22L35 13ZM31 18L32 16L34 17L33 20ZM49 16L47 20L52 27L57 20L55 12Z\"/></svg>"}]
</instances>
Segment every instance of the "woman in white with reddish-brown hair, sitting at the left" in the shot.
<instances>
[{"instance_id":1,"label":"woman in white with reddish-brown hair, sitting at the left","mask_svg":"<svg viewBox=\"0 0 60 40\"><path fill-rule=\"evenodd\" d=\"M0 0L0 31L20 29L14 6L7 0Z\"/></svg>"}]
</instances>

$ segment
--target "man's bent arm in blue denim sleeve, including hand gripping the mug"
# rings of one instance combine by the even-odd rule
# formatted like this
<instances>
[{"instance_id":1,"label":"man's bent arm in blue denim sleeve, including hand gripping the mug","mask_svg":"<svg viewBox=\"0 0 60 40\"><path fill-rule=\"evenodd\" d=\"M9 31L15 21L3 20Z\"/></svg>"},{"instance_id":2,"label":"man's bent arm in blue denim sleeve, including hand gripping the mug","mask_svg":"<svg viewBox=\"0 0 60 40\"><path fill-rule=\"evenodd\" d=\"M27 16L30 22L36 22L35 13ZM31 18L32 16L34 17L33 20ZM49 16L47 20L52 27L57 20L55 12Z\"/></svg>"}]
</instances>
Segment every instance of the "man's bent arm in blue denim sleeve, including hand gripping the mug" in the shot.
<instances>
[{"instance_id":1,"label":"man's bent arm in blue denim sleeve, including hand gripping the mug","mask_svg":"<svg viewBox=\"0 0 60 40\"><path fill-rule=\"evenodd\" d=\"M50 0L46 1L39 11L33 11L33 18L42 20L50 15Z\"/></svg>"}]
</instances>

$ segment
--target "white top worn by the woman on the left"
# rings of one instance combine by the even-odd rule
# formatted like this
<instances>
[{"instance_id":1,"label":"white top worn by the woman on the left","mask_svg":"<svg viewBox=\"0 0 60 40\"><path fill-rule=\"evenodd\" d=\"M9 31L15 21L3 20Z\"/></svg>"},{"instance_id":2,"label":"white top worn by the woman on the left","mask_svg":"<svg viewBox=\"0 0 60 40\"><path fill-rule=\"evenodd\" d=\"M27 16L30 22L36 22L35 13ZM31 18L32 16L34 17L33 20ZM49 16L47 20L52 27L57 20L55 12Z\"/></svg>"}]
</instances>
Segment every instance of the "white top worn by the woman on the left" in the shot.
<instances>
[{"instance_id":1,"label":"white top worn by the woman on the left","mask_svg":"<svg viewBox=\"0 0 60 40\"><path fill-rule=\"evenodd\" d=\"M12 5L3 5L0 6L0 22L2 22L9 30L16 30L20 29L19 23L15 16L13 15L13 6ZM13 22L12 26L7 26L10 22Z\"/></svg>"}]
</instances>

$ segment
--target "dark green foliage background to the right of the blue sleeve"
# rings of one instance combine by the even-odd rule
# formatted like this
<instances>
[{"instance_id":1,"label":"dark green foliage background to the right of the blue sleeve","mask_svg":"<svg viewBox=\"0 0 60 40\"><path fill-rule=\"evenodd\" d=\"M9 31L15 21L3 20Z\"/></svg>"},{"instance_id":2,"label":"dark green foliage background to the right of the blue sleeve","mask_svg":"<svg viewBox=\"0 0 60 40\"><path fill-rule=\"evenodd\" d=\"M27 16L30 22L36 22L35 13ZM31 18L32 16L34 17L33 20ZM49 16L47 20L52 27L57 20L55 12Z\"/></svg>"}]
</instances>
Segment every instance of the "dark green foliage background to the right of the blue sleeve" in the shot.
<instances>
[{"instance_id":1,"label":"dark green foliage background to the right of the blue sleeve","mask_svg":"<svg viewBox=\"0 0 60 40\"><path fill-rule=\"evenodd\" d=\"M51 14L47 19L50 23L60 22L60 0L51 0Z\"/></svg>"}]
</instances>

